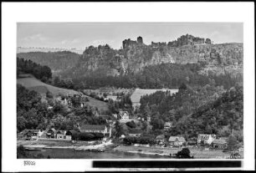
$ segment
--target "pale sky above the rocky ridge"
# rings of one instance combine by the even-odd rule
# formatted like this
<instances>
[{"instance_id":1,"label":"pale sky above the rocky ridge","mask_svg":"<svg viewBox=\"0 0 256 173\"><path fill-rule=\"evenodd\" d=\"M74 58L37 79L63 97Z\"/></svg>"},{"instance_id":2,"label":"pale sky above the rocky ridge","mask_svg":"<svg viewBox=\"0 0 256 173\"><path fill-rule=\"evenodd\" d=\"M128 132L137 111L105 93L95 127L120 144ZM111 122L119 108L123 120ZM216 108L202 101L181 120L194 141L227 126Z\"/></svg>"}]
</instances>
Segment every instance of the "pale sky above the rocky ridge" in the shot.
<instances>
[{"instance_id":1,"label":"pale sky above the rocky ridge","mask_svg":"<svg viewBox=\"0 0 256 173\"><path fill-rule=\"evenodd\" d=\"M18 47L85 48L108 43L120 48L125 38L166 42L184 34L213 43L243 43L243 23L18 23Z\"/></svg>"}]
</instances>

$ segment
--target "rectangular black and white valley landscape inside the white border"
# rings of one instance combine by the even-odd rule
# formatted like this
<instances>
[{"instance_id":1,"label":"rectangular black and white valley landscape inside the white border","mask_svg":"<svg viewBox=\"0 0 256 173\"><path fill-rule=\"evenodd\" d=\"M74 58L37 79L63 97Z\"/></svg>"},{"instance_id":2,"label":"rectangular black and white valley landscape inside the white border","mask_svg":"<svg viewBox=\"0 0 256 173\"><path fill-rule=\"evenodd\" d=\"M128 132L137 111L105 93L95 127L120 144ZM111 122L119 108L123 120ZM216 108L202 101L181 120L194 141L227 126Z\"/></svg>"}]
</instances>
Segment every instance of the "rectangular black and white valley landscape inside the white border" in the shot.
<instances>
[{"instance_id":1,"label":"rectangular black and white valley landscape inside the white border","mask_svg":"<svg viewBox=\"0 0 256 173\"><path fill-rule=\"evenodd\" d=\"M245 23L109 21L14 23L14 159L30 169L40 160L235 160L243 168L254 133L244 130L245 116L254 120L244 64L255 59L244 52Z\"/></svg>"}]
</instances>

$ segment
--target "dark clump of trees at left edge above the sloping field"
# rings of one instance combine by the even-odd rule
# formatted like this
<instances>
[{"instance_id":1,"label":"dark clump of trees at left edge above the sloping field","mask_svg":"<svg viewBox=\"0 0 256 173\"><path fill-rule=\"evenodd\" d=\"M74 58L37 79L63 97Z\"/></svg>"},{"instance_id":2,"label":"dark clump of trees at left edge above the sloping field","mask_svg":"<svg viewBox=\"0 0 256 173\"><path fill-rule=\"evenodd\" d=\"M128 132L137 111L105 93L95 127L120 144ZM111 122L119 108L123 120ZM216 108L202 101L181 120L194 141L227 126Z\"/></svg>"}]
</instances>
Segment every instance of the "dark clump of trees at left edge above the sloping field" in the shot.
<instances>
[{"instance_id":1,"label":"dark clump of trees at left edge above the sloping field","mask_svg":"<svg viewBox=\"0 0 256 173\"><path fill-rule=\"evenodd\" d=\"M36 64L31 60L17 58L17 74L19 75L21 73L33 74L35 78L43 82L52 78L52 72L48 66Z\"/></svg>"}]
</instances>

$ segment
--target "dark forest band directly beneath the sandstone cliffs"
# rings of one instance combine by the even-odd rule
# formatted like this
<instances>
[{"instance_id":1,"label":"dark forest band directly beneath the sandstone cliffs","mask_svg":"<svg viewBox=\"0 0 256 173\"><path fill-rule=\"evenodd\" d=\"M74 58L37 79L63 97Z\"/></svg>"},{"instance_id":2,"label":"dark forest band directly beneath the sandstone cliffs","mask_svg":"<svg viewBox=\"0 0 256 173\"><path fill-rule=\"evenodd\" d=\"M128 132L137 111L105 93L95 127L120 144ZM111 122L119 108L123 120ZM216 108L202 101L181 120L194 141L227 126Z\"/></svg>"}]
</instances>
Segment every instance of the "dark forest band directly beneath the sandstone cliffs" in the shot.
<instances>
[{"instance_id":1,"label":"dark forest band directly beneath the sandstone cliffs","mask_svg":"<svg viewBox=\"0 0 256 173\"><path fill-rule=\"evenodd\" d=\"M197 73L200 69L202 69L200 64L157 64L147 66L136 74L110 76L102 71L99 73L95 71L90 74L74 75L71 78L77 89L98 89L100 87L177 89L181 84L204 86L210 84L212 79L215 80L216 85L229 89L236 82L243 81L242 78L233 78L231 74L205 76Z\"/></svg>"}]
</instances>

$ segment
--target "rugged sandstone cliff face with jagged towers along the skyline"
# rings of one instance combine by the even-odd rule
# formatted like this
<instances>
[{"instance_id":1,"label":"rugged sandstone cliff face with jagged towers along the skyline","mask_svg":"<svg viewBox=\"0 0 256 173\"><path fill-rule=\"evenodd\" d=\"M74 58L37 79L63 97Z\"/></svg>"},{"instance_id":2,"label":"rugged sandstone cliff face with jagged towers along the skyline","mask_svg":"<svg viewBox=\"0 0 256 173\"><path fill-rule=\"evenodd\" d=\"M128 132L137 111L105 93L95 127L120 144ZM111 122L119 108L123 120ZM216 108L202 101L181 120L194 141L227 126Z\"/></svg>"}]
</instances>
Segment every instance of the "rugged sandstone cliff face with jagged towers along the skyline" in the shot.
<instances>
[{"instance_id":1,"label":"rugged sandstone cliff face with jagged towers along the skyline","mask_svg":"<svg viewBox=\"0 0 256 173\"><path fill-rule=\"evenodd\" d=\"M202 74L226 73L223 67L239 71L243 67L243 43L212 44L210 39L185 35L172 43L151 43L146 45L142 38L137 41L126 39L123 49L109 46L90 47L84 51L80 64L85 71L100 71L107 75L137 73L154 64L193 64L204 62L207 68ZM215 66L216 70L213 70ZM225 72L224 72L225 71ZM228 70L232 72L233 70ZM243 70L242 70L243 71ZM220 73L221 74L221 73Z\"/></svg>"}]
</instances>

